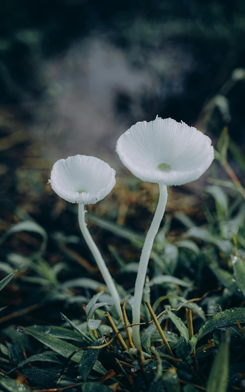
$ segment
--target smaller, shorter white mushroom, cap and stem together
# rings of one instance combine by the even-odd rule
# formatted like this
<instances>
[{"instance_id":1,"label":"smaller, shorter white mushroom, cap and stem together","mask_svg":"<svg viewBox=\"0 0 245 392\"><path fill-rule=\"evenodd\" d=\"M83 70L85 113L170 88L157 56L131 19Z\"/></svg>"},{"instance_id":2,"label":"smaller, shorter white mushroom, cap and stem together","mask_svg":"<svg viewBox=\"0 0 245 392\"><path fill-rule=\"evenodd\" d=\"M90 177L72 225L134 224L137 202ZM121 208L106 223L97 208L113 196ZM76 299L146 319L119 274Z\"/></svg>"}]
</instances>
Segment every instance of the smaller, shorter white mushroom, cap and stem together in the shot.
<instances>
[{"instance_id":1,"label":"smaller, shorter white mushroom, cap and stem together","mask_svg":"<svg viewBox=\"0 0 245 392\"><path fill-rule=\"evenodd\" d=\"M115 185L115 170L96 157L75 155L54 163L49 180L52 189L70 203L78 203L79 226L91 250L115 308L121 316L120 297L114 281L85 222L84 205L95 204L107 196Z\"/></svg>"}]
</instances>

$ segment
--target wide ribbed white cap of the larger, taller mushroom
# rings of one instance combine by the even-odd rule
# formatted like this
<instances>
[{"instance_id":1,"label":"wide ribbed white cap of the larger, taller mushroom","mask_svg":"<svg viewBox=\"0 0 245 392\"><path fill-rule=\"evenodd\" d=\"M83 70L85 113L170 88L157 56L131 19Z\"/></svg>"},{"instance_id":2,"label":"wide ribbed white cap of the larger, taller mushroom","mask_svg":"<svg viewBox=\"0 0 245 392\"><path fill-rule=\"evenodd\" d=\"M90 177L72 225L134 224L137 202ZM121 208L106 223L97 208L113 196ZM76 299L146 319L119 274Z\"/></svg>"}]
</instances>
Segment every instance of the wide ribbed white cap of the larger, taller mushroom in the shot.
<instances>
[{"instance_id":1,"label":"wide ribbed white cap of the larger, taller mushroom","mask_svg":"<svg viewBox=\"0 0 245 392\"><path fill-rule=\"evenodd\" d=\"M116 144L122 163L140 180L182 185L197 180L214 159L211 139L172 118L137 122Z\"/></svg>"}]
</instances>

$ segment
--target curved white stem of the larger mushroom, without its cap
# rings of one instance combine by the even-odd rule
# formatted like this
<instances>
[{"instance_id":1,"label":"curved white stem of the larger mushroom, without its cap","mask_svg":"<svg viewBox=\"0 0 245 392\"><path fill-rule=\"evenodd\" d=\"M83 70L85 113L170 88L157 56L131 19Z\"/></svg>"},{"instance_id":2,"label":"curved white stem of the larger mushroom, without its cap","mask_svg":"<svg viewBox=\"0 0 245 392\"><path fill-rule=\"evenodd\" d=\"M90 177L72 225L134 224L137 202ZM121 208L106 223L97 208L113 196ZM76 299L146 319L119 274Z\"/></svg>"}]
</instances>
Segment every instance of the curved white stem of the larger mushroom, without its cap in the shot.
<instances>
[{"instance_id":1,"label":"curved white stem of the larger mushroom, without its cap","mask_svg":"<svg viewBox=\"0 0 245 392\"><path fill-rule=\"evenodd\" d=\"M143 249L140 256L138 274L135 282L134 288L134 301L132 307L132 316L133 316L133 324L140 323L140 306L143 296L144 284L146 280L147 274L147 265L150 257L150 252L152 249L152 245L155 239L155 236L159 230L160 223L163 219L163 214L165 211L166 203L167 203L167 187L165 184L159 184L159 201L157 205L157 209L153 220L151 222L150 228L147 232L147 236L145 239L145 243L143 245ZM133 343L135 347L141 348L140 342L140 326L132 327L132 337Z\"/></svg>"}]
</instances>

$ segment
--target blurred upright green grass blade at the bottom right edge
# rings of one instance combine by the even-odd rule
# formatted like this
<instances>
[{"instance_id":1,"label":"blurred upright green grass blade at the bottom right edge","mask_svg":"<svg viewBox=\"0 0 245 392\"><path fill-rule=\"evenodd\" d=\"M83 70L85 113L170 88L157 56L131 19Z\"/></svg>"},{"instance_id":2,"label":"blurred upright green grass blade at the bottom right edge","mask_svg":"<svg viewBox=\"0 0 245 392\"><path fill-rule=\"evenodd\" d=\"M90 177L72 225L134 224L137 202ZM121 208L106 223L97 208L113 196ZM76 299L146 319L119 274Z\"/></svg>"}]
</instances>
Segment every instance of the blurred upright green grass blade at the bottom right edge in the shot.
<instances>
[{"instance_id":1,"label":"blurred upright green grass blade at the bottom right edge","mask_svg":"<svg viewBox=\"0 0 245 392\"><path fill-rule=\"evenodd\" d=\"M206 392L226 392L229 374L229 335L226 334L213 361Z\"/></svg>"}]
</instances>

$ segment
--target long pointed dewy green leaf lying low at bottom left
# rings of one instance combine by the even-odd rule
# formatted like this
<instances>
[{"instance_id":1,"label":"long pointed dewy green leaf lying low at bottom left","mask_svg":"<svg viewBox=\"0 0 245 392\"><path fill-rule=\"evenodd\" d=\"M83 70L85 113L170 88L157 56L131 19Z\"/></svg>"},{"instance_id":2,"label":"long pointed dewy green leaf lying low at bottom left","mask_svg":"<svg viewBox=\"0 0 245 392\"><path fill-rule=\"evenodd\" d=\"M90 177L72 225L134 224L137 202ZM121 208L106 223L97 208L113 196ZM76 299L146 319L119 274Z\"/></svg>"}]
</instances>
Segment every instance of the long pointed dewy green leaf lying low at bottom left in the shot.
<instances>
[{"instance_id":1,"label":"long pointed dewy green leaf lying low at bottom left","mask_svg":"<svg viewBox=\"0 0 245 392\"><path fill-rule=\"evenodd\" d=\"M64 342L63 340L54 338L53 336L45 335L44 333L36 332L27 328L23 328L23 329L26 333L33 336L33 338L45 344L46 346L51 348L51 350L55 351L56 353L62 355L65 358L69 358L70 355L78 349L78 347L74 346L73 344ZM71 359L79 363L83 353L84 351L80 350L77 353L75 353ZM95 363L94 370L96 370L98 373L101 374L106 373L106 369L98 361L96 361Z\"/></svg>"}]
</instances>

